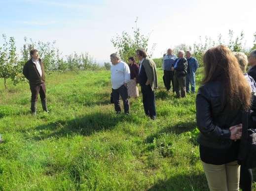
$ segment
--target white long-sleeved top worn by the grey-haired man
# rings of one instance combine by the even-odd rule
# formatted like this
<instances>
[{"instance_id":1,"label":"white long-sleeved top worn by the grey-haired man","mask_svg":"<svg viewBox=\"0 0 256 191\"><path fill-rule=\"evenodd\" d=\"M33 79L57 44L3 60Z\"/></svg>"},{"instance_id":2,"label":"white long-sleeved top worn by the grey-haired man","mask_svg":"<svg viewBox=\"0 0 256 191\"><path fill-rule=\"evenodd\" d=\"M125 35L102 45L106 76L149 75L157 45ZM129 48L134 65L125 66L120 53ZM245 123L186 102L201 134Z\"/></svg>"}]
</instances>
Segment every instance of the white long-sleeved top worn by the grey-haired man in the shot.
<instances>
[{"instance_id":1,"label":"white long-sleeved top worn by the grey-haired man","mask_svg":"<svg viewBox=\"0 0 256 191\"><path fill-rule=\"evenodd\" d=\"M111 83L113 89L118 89L124 83L128 83L131 79L130 68L128 64L123 61L115 65L111 65Z\"/></svg>"}]
</instances>

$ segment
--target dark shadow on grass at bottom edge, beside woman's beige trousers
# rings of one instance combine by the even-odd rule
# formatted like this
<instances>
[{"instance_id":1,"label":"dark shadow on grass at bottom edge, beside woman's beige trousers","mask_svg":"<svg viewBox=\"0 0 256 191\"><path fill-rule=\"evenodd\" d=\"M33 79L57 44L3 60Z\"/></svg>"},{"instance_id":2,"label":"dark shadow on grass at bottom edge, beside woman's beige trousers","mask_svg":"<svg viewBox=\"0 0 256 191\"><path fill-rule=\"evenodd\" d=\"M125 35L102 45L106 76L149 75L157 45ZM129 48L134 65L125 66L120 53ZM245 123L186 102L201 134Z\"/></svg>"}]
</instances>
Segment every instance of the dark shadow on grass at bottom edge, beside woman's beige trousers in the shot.
<instances>
[{"instance_id":1,"label":"dark shadow on grass at bottom edge, beside woman's beige trousers","mask_svg":"<svg viewBox=\"0 0 256 191\"><path fill-rule=\"evenodd\" d=\"M157 182L147 191L208 191L204 173L177 175Z\"/></svg>"}]
</instances>

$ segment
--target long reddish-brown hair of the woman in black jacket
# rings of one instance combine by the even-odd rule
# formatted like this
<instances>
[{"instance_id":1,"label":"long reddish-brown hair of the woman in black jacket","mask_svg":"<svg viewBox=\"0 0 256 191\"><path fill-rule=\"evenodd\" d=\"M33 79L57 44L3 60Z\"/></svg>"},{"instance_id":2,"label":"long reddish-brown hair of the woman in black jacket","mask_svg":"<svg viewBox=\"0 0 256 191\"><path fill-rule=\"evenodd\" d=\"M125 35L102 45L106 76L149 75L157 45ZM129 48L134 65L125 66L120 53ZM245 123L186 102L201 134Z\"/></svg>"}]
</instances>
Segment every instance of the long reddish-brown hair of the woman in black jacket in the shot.
<instances>
[{"instance_id":1,"label":"long reddish-brown hair of the woman in black jacket","mask_svg":"<svg viewBox=\"0 0 256 191\"><path fill-rule=\"evenodd\" d=\"M232 52L222 45L213 47L206 51L203 61L203 84L213 81L223 84L222 104L229 109L250 109L251 88Z\"/></svg>"}]
</instances>

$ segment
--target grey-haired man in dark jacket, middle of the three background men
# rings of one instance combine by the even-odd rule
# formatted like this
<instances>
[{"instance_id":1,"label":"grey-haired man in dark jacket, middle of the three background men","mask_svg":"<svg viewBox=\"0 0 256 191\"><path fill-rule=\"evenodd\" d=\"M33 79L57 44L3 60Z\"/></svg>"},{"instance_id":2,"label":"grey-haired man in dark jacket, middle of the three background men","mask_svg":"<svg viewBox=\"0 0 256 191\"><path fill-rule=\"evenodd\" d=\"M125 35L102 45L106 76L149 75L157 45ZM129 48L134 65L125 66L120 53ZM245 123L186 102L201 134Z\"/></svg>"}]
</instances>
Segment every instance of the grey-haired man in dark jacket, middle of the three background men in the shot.
<instances>
[{"instance_id":1,"label":"grey-haired man in dark jacket, middle of the three background men","mask_svg":"<svg viewBox=\"0 0 256 191\"><path fill-rule=\"evenodd\" d=\"M187 75L187 60L184 58L184 51L179 51L178 58L172 65L174 71L174 87L178 98L186 96L185 80Z\"/></svg>"}]
</instances>

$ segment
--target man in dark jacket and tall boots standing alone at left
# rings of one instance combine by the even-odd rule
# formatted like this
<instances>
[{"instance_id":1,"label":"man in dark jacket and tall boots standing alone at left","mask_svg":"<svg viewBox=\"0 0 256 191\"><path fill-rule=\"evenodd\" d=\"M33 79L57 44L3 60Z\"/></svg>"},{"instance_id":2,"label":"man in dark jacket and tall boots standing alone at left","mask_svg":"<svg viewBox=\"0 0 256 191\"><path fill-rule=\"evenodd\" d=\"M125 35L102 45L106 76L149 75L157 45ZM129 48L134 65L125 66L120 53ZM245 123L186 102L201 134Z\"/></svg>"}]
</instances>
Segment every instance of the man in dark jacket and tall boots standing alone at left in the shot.
<instances>
[{"instance_id":1,"label":"man in dark jacket and tall boots standing alone at left","mask_svg":"<svg viewBox=\"0 0 256 191\"><path fill-rule=\"evenodd\" d=\"M36 49L30 51L31 59L23 67L23 75L29 80L31 90L31 111L37 114L37 96L40 95L42 108L48 112L46 104L45 73Z\"/></svg>"}]
</instances>

